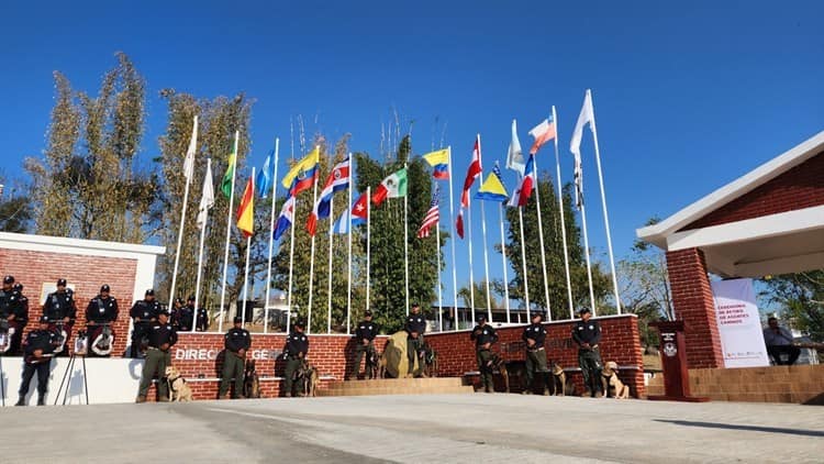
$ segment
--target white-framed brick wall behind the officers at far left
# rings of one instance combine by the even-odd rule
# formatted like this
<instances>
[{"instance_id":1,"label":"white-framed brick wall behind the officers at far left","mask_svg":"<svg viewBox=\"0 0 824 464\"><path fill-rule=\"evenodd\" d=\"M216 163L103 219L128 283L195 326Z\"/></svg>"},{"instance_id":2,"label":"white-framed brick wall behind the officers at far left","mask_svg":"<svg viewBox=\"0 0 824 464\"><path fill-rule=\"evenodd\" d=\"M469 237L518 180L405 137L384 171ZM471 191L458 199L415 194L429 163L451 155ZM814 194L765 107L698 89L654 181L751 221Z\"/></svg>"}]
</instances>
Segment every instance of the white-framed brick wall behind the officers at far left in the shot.
<instances>
[{"instance_id":1,"label":"white-framed brick wall behind the officers at far left","mask_svg":"<svg viewBox=\"0 0 824 464\"><path fill-rule=\"evenodd\" d=\"M122 354L125 351L129 342L129 310L132 308L132 291L137 272L136 259L0 248L0 269L3 275L14 276L14 280L23 285L23 295L29 298L29 320L32 322L23 336L32 328L36 328L34 321L43 314L40 302L43 284L56 284L58 278L65 278L69 286L74 286L77 322L66 346L73 346L78 329L86 327L86 307L89 300L98 295L101 285L109 284L120 309L113 325L115 339L112 353Z\"/></svg>"}]
</instances>

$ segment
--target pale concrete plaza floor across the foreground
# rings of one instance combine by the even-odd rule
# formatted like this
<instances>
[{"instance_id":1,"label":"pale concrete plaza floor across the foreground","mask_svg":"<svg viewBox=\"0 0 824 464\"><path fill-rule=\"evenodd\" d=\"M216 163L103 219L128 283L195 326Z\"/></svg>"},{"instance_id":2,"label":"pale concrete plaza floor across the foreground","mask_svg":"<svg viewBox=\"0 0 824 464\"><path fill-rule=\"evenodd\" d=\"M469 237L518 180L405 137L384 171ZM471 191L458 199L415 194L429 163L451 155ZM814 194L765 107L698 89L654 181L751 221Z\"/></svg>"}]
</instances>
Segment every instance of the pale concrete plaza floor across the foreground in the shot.
<instances>
[{"instance_id":1,"label":"pale concrete plaza floor across the foreground","mask_svg":"<svg viewBox=\"0 0 824 464\"><path fill-rule=\"evenodd\" d=\"M824 409L779 404L475 394L4 408L0 420L3 463L824 462Z\"/></svg>"}]
</instances>

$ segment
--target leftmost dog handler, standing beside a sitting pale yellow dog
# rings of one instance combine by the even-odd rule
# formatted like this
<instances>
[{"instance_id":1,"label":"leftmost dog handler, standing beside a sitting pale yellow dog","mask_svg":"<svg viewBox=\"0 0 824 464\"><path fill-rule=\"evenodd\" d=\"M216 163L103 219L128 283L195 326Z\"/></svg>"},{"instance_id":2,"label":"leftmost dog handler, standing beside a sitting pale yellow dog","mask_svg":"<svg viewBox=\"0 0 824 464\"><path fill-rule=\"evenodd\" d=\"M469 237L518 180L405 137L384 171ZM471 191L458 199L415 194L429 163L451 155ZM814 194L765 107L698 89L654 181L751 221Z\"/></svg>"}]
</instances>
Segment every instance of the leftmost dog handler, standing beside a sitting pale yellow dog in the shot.
<instances>
[{"instance_id":1,"label":"leftmost dog handler, standing beside a sitting pale yellow dog","mask_svg":"<svg viewBox=\"0 0 824 464\"><path fill-rule=\"evenodd\" d=\"M169 311L162 310L157 314L157 321L152 323L148 329L148 350L146 351L146 362L143 364L143 374L141 376L141 387L137 393L135 402L145 402L148 387L152 385L152 377L157 375L157 393L160 395L160 401L169 400L169 386L163 380L166 376L166 366L171 365L171 346L177 343L177 331L169 323Z\"/></svg>"}]
</instances>

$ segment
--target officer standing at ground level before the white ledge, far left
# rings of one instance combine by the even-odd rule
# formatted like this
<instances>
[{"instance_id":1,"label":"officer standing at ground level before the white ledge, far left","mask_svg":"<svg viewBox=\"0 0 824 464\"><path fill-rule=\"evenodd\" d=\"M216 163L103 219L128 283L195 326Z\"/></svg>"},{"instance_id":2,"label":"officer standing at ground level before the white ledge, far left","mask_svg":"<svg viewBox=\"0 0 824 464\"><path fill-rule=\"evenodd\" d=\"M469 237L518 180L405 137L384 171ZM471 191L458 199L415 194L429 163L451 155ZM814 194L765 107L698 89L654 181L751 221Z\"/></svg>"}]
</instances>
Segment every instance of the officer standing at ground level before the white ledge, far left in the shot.
<instances>
[{"instance_id":1,"label":"officer standing at ground level before the white ledge, far left","mask_svg":"<svg viewBox=\"0 0 824 464\"><path fill-rule=\"evenodd\" d=\"M48 389L48 371L52 365L52 353L59 344L57 334L48 329L47 316L40 318L40 327L25 338L25 357L23 366L23 382L20 384L20 398L15 406L25 406L25 396L29 395L29 385L34 372L37 372L37 406L46 404L46 391Z\"/></svg>"}]
</instances>

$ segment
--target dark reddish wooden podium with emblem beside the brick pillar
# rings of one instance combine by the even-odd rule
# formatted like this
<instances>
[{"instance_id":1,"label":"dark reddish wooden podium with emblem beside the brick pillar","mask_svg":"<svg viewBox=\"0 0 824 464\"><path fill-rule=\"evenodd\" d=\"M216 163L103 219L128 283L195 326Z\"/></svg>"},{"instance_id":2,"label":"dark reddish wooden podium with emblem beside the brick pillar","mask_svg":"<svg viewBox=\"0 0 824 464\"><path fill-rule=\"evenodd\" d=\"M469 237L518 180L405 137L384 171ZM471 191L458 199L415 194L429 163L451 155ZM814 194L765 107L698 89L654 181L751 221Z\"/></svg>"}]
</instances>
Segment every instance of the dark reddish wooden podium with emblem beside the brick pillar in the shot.
<instances>
[{"instance_id":1,"label":"dark reddish wooden podium with emblem beside the brick pillar","mask_svg":"<svg viewBox=\"0 0 824 464\"><path fill-rule=\"evenodd\" d=\"M710 398L690 396L690 374L687 369L687 349L683 321L652 322L660 338L661 368L665 395L650 395L647 399L666 401L703 402Z\"/></svg>"}]
</instances>

